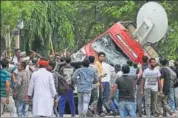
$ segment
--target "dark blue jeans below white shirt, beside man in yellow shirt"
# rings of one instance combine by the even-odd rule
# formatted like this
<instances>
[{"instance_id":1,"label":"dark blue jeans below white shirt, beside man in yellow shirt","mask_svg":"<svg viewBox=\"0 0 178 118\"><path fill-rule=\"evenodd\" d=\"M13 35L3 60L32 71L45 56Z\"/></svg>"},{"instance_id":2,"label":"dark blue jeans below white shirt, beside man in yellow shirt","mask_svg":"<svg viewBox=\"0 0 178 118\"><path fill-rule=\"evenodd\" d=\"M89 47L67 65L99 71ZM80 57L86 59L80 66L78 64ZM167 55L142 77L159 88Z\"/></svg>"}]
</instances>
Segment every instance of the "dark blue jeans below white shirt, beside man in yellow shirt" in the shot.
<instances>
[{"instance_id":1,"label":"dark blue jeans below white shirt, beside man in yellow shirt","mask_svg":"<svg viewBox=\"0 0 178 118\"><path fill-rule=\"evenodd\" d=\"M111 102L108 106L108 100L110 96L110 84L109 82L102 82L102 84L103 84L103 105L107 110L116 112L116 107L114 106L113 102Z\"/></svg>"}]
</instances>

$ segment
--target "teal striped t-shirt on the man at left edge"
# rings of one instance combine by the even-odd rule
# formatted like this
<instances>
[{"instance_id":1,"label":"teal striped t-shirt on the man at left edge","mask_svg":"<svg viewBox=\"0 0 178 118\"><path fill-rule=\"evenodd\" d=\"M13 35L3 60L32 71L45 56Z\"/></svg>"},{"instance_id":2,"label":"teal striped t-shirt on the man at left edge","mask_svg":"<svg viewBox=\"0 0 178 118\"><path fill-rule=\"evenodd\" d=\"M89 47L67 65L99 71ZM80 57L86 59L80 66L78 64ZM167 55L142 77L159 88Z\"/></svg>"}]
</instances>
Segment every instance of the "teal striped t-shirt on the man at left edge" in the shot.
<instances>
[{"instance_id":1,"label":"teal striped t-shirt on the man at left edge","mask_svg":"<svg viewBox=\"0 0 178 118\"><path fill-rule=\"evenodd\" d=\"M2 69L0 70L0 75L1 75L1 83L0 83L1 97L7 97L6 81L7 80L11 81L11 74L6 69Z\"/></svg>"}]
</instances>

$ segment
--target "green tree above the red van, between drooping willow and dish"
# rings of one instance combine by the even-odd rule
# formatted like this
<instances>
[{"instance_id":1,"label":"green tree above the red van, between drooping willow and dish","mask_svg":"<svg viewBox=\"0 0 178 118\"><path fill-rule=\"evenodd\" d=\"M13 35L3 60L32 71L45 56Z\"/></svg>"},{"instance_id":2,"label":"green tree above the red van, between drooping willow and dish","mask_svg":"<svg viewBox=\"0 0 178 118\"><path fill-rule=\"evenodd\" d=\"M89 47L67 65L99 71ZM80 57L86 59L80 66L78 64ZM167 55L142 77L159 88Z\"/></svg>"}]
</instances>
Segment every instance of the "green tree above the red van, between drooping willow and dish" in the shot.
<instances>
[{"instance_id":1,"label":"green tree above the red van, between drooping willow and dish","mask_svg":"<svg viewBox=\"0 0 178 118\"><path fill-rule=\"evenodd\" d=\"M135 8L133 1L75 1L76 17L72 19L75 28L76 49L101 34L113 23L125 20L124 14ZM127 18L129 15L126 15ZM132 18L133 19L133 18Z\"/></svg>"}]
</instances>

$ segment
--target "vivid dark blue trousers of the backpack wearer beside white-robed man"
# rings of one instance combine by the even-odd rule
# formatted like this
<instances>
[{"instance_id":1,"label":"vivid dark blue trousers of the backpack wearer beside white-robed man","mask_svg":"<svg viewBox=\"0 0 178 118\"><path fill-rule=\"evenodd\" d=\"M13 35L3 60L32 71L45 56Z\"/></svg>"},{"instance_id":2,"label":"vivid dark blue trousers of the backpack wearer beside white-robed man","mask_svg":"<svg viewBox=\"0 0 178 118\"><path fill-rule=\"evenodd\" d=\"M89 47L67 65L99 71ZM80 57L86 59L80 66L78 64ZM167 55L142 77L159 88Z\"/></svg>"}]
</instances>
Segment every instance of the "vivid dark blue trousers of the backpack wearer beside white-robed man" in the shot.
<instances>
[{"instance_id":1,"label":"vivid dark blue trousers of the backpack wearer beside white-robed man","mask_svg":"<svg viewBox=\"0 0 178 118\"><path fill-rule=\"evenodd\" d=\"M70 112L72 116L75 116L75 102L74 102L74 92L72 89L69 89L67 92L65 92L63 95L61 95L59 99L59 116L63 117L64 115L64 110L65 110L65 105L66 102L69 102L70 105Z\"/></svg>"}]
</instances>

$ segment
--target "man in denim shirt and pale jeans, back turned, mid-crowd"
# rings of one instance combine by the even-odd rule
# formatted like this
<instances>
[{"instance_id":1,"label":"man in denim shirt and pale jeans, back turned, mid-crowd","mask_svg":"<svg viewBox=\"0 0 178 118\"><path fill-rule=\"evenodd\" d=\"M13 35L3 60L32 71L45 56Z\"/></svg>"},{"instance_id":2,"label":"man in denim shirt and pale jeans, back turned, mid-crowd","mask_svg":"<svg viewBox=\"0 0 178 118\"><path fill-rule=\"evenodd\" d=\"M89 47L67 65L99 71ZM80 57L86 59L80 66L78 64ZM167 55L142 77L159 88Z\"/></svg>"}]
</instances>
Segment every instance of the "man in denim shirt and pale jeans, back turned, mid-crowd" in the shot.
<instances>
[{"instance_id":1,"label":"man in denim shirt and pale jeans, back turned, mid-crowd","mask_svg":"<svg viewBox=\"0 0 178 118\"><path fill-rule=\"evenodd\" d=\"M78 112L79 117L86 117L90 103L93 84L98 82L98 75L93 68L90 68L89 60L84 59L82 68L75 71L72 80L77 85L78 90Z\"/></svg>"}]
</instances>

